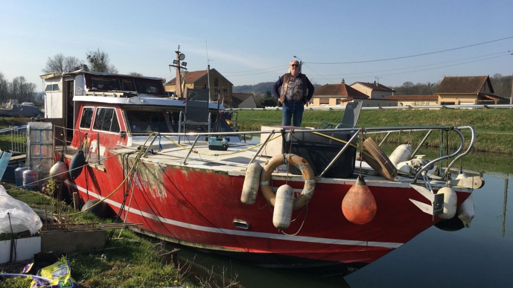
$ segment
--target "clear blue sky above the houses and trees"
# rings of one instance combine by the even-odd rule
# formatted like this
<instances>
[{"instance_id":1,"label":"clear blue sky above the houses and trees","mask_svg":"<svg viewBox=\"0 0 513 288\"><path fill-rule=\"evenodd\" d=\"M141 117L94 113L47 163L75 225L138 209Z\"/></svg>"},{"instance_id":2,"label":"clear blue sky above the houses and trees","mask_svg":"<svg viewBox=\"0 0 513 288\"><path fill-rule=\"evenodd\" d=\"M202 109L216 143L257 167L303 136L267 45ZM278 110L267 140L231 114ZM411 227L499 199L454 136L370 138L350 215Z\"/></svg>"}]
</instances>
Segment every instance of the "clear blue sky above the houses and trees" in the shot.
<instances>
[{"instance_id":1,"label":"clear blue sky above the houses and trees","mask_svg":"<svg viewBox=\"0 0 513 288\"><path fill-rule=\"evenodd\" d=\"M208 47L211 68L235 86L277 80L294 55L321 85L513 73L511 0L0 0L0 12L0 72L38 90L48 57L98 48L121 74L169 80L178 45L189 71L206 69Z\"/></svg>"}]
</instances>

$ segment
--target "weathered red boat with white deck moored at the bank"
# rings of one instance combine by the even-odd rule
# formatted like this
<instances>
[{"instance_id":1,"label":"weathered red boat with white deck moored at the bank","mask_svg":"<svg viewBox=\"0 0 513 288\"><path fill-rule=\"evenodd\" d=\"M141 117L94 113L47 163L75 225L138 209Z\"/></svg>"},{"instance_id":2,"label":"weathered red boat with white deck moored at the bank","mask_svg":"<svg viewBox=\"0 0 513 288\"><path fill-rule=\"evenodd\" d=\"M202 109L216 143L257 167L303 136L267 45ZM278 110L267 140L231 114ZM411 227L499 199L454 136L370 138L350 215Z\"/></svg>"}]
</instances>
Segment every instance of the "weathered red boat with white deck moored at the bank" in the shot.
<instances>
[{"instance_id":1,"label":"weathered red boat with white deck moored at the bank","mask_svg":"<svg viewBox=\"0 0 513 288\"><path fill-rule=\"evenodd\" d=\"M159 79L76 71L46 81L73 87L73 137L55 147L72 174L70 194L102 200L121 220L142 223L141 233L259 265L352 272L435 224L468 227L469 196L482 186L449 173L473 145L471 127L270 127L245 132L259 143L235 142L241 132L183 119L187 101L165 95ZM94 89L98 82L116 88ZM222 121L216 104L199 106ZM372 141L400 131L453 133L460 146L426 160L411 146L389 157ZM433 170L444 159L452 161Z\"/></svg>"}]
</instances>

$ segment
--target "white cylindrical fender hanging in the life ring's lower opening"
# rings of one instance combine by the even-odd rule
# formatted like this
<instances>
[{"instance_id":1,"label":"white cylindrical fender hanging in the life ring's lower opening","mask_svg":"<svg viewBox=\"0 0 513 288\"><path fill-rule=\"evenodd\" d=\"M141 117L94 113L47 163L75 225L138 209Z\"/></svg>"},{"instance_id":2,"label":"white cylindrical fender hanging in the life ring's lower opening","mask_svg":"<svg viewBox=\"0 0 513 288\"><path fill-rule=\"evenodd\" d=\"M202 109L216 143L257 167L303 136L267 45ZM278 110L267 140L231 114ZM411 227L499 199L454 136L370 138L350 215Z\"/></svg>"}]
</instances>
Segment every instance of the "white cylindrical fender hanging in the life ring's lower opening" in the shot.
<instances>
[{"instance_id":1,"label":"white cylindrical fender hanging in the life ring's lower opening","mask_svg":"<svg viewBox=\"0 0 513 288\"><path fill-rule=\"evenodd\" d=\"M274 227L283 230L287 229L292 219L292 205L294 204L294 191L292 187L284 184L276 191L274 212L272 213L272 224Z\"/></svg>"}]
</instances>

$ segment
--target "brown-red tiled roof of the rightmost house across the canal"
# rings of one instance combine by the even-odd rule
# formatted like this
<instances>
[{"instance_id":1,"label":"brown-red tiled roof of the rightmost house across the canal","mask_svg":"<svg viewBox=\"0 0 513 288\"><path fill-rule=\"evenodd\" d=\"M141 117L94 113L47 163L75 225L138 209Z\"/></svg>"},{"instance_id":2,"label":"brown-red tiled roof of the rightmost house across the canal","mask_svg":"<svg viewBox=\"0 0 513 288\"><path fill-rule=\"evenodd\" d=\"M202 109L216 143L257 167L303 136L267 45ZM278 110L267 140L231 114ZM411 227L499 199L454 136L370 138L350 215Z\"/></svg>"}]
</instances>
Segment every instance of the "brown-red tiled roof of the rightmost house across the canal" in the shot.
<instances>
[{"instance_id":1,"label":"brown-red tiled roof of the rightmost house across the canal","mask_svg":"<svg viewBox=\"0 0 513 288\"><path fill-rule=\"evenodd\" d=\"M478 94L486 83L488 83L491 93L494 93L488 76L448 76L444 77L435 94Z\"/></svg>"}]
</instances>

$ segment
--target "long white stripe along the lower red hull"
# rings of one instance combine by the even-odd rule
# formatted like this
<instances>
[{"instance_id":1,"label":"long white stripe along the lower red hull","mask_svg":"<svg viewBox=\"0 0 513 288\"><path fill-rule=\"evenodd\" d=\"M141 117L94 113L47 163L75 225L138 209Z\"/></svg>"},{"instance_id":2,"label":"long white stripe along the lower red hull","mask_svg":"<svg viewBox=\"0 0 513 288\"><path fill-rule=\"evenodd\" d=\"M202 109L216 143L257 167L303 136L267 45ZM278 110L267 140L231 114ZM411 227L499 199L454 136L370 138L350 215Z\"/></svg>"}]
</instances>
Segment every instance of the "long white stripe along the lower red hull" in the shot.
<instances>
[{"instance_id":1,"label":"long white stripe along the lower red hull","mask_svg":"<svg viewBox=\"0 0 513 288\"><path fill-rule=\"evenodd\" d=\"M70 184L72 187L82 191L84 193L88 193L90 196L93 196L98 199L104 199L100 195L97 195L91 191L87 191L85 188L78 187L76 184L71 183L69 180L66 180L66 183ZM106 203L109 203L119 209L121 209L121 204L110 199L105 200ZM194 225L190 223L180 222L176 220L167 219L164 217L158 217L154 214L146 213L140 210L136 210L133 207L128 208L124 207L125 211L130 213L141 215L146 218L153 219L155 221L160 221L163 223L167 223L170 225L175 225L182 228L193 229L198 231L205 231L211 233L220 233L220 234L228 234L228 235L238 235L238 236L248 236L248 237L260 237L260 238L268 238L268 239L279 239L286 241L301 241L301 242L311 242L311 243L322 243L322 244L336 244L336 245L356 245L356 246L373 246L373 247L383 247L383 248L398 248L404 243L394 243L394 242L372 242L372 241L356 241L356 240L341 240L341 239L329 239L329 238L319 238L319 237L307 237L307 236L289 236L284 234L271 234L271 233L263 233L263 232L251 232L251 231L241 231L241 230L231 230L231 229L220 229L220 228L212 228L205 227L200 225Z\"/></svg>"}]
</instances>

